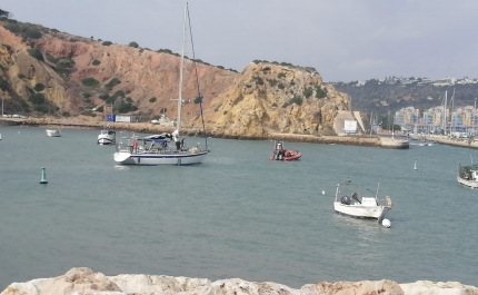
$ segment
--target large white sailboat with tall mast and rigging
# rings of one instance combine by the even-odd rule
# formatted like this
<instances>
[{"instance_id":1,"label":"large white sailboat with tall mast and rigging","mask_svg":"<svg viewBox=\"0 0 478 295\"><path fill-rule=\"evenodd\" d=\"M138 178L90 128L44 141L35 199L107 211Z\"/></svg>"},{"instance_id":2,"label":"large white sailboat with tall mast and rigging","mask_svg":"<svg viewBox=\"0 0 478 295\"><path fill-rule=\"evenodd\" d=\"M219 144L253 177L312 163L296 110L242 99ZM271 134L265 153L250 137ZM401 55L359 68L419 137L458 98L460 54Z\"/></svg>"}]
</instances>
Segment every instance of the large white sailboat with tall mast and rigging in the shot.
<instances>
[{"instance_id":1,"label":"large white sailboat with tall mast and rigging","mask_svg":"<svg viewBox=\"0 0 478 295\"><path fill-rule=\"evenodd\" d=\"M196 147L188 148L185 144L185 138L180 138L181 128L181 105L182 105L182 79L183 79L183 63L185 63L185 43L186 31L189 29L191 33L189 21L188 1L185 0L185 17L183 17L183 33L182 33L182 50L179 66L179 90L178 90L178 118L176 120L177 129L173 132L163 132L160 135L151 135L146 137L121 137L119 145L117 145L117 153L114 153L114 161L121 165L195 165L201 164L209 153L208 141L206 138L206 148L201 148L199 144ZM192 33L191 33L192 41ZM195 62L195 47L192 46L192 55ZM195 62L196 76L198 75ZM199 80L197 81L198 98L201 100L199 90ZM199 104L202 118L202 101ZM202 120L202 128L205 122ZM206 134L206 132L205 132Z\"/></svg>"}]
</instances>

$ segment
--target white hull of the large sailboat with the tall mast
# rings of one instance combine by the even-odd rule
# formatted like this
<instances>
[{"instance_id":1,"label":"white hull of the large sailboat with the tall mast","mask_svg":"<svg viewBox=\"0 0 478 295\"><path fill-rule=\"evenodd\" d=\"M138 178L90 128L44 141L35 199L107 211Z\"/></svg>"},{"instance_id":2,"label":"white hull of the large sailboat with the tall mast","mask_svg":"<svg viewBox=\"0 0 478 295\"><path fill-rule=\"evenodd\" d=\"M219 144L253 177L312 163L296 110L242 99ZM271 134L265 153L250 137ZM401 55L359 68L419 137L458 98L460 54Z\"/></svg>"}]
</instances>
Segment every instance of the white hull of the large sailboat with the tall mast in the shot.
<instances>
[{"instance_id":1,"label":"white hull of the large sailboat with the tall mast","mask_svg":"<svg viewBox=\"0 0 478 295\"><path fill-rule=\"evenodd\" d=\"M143 165L143 166L156 166L156 165L176 165L186 166L201 164L208 155L208 151L190 153L170 153L170 154L130 154L125 151L114 153L114 161L121 165Z\"/></svg>"}]
</instances>

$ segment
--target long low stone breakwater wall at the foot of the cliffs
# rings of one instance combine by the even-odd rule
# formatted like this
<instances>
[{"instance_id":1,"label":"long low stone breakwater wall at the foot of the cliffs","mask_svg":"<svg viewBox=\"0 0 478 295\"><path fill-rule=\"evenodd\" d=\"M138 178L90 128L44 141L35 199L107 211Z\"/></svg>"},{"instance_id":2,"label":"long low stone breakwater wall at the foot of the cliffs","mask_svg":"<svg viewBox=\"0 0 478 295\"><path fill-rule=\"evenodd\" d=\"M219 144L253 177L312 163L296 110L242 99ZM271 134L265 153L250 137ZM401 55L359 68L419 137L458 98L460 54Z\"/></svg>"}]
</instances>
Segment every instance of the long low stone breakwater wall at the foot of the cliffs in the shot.
<instances>
[{"instance_id":1,"label":"long low stone breakwater wall at the foot of the cliffs","mask_svg":"<svg viewBox=\"0 0 478 295\"><path fill-rule=\"evenodd\" d=\"M37 127L62 127L62 128L82 128L82 129L111 129L141 134L161 134L172 132L175 127L152 125L150 122L109 122L98 120L80 120L73 118L28 118L22 120L10 121L10 125L37 126ZM202 135L200 129L181 127L181 134L187 136L207 136L225 139L243 139L243 140L285 140L290 142L310 142L310 144L336 144L348 146L365 147L384 147L404 149L408 148L407 140L389 139L384 137L369 136L312 136L298 134L278 134L272 132L262 137L253 136L230 136L213 129Z\"/></svg>"}]
</instances>

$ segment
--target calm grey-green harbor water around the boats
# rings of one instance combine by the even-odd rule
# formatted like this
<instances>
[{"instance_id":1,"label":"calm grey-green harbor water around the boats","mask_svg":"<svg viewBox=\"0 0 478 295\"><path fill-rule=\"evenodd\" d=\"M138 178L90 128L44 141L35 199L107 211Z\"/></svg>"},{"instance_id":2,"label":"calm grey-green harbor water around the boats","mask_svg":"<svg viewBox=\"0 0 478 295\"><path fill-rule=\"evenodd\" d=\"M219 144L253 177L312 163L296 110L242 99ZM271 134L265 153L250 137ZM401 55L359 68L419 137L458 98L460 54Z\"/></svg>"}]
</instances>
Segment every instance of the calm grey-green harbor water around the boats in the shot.
<instances>
[{"instance_id":1,"label":"calm grey-green harbor water around the boats","mask_svg":"<svg viewBox=\"0 0 478 295\"><path fill-rule=\"evenodd\" d=\"M478 285L478 191L456 181L457 164L478 160L476 150L286 142L302 160L278 163L268 160L271 141L209 139L199 166L123 167L113 147L96 144L98 130L0 134L0 289L76 266L292 287ZM48 185L39 185L41 167ZM380 183L394 199L391 228L333 213L336 184L347 177L372 190Z\"/></svg>"}]
</instances>

